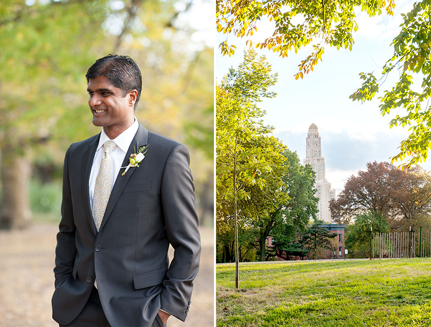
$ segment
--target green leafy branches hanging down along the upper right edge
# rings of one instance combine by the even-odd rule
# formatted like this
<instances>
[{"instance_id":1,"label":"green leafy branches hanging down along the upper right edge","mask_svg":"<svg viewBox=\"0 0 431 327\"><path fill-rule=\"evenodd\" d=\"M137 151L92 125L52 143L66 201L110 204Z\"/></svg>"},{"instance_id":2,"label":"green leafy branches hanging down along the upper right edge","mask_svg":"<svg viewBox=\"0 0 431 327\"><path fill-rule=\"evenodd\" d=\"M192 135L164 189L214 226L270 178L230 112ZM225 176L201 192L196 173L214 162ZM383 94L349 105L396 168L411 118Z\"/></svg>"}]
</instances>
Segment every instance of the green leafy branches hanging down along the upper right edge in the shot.
<instances>
[{"instance_id":1,"label":"green leafy branches hanging down along the upper right edge","mask_svg":"<svg viewBox=\"0 0 431 327\"><path fill-rule=\"evenodd\" d=\"M400 34L392 41L393 55L383 66L382 76L361 73L364 82L350 98L362 102L371 100L389 75L396 76L397 82L380 97L379 107L383 116L403 109L389 126L408 126L410 135L401 142L400 152L392 157L392 163L407 159L400 166L411 167L426 160L431 146L431 2L415 2L413 9L402 16Z\"/></svg>"}]
</instances>

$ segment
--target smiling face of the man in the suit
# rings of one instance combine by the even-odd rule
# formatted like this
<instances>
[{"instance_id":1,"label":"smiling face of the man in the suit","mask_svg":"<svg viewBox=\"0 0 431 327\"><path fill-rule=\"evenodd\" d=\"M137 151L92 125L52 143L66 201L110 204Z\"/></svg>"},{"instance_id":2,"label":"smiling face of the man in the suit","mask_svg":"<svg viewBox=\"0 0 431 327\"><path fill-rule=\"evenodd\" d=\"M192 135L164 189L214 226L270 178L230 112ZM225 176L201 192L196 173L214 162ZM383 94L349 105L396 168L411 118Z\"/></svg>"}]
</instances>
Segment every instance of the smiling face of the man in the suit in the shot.
<instances>
[{"instance_id":1,"label":"smiling face of the man in the suit","mask_svg":"<svg viewBox=\"0 0 431 327\"><path fill-rule=\"evenodd\" d=\"M102 126L111 139L133 123L136 90L123 96L122 89L115 87L105 76L99 75L89 79L87 91L90 95L88 105L93 113L93 125Z\"/></svg>"}]
</instances>

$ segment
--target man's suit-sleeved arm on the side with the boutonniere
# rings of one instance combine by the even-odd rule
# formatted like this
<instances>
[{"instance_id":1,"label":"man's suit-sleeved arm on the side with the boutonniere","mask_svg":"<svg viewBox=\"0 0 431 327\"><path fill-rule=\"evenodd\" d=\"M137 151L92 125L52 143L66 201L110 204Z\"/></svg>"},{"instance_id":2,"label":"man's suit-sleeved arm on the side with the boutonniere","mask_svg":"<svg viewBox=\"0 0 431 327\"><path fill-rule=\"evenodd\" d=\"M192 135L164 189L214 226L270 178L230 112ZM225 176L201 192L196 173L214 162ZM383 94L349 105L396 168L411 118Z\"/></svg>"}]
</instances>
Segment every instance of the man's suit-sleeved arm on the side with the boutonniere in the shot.
<instances>
[{"instance_id":1,"label":"man's suit-sleeved arm on the side with the boutonniere","mask_svg":"<svg viewBox=\"0 0 431 327\"><path fill-rule=\"evenodd\" d=\"M166 160L161 197L167 237L174 248L163 281L161 309L184 321L199 269L201 247L189 152L182 144L175 146Z\"/></svg>"}]
</instances>

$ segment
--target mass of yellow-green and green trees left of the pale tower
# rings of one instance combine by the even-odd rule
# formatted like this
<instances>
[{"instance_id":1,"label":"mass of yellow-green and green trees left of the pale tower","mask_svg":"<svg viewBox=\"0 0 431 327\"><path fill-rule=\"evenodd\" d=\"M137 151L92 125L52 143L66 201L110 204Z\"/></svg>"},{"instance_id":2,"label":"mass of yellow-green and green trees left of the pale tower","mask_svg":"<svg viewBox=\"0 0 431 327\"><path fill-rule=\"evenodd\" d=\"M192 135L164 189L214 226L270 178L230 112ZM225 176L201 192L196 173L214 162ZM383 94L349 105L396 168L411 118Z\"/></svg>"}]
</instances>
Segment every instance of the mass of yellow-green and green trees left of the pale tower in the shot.
<instances>
[{"instance_id":1,"label":"mass of yellow-green and green trees left of the pale tower","mask_svg":"<svg viewBox=\"0 0 431 327\"><path fill-rule=\"evenodd\" d=\"M276 81L266 57L248 49L216 86L218 262L235 258L236 228L238 259L264 261L275 256L267 251L268 236L277 249L285 247L315 217L314 172L262 121L258 104L276 95L270 90Z\"/></svg>"}]
</instances>

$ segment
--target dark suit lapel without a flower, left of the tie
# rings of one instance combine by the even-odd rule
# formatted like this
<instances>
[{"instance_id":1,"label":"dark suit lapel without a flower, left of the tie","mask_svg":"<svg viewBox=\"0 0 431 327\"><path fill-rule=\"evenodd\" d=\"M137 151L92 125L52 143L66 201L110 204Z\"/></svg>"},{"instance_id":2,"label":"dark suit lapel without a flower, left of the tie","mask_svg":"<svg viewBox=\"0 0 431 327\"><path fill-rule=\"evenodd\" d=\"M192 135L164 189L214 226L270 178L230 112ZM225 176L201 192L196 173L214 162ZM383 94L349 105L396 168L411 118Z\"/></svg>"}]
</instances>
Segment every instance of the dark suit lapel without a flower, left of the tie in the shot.
<instances>
[{"instance_id":1,"label":"dark suit lapel without a flower, left of the tie","mask_svg":"<svg viewBox=\"0 0 431 327\"><path fill-rule=\"evenodd\" d=\"M94 235L97 235L96 226L94 225L93 214L91 213L90 207L90 192L88 187L88 182L90 179L91 166L93 165L94 154L96 153L97 144L99 143L100 134L98 137L94 138L89 145L87 150L84 151L82 157L82 169L81 169L81 188L82 188L82 198L84 200L84 211L86 213L88 222L90 223L91 230Z\"/></svg>"}]
</instances>

